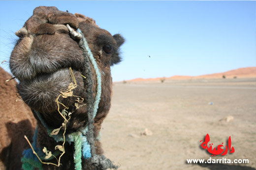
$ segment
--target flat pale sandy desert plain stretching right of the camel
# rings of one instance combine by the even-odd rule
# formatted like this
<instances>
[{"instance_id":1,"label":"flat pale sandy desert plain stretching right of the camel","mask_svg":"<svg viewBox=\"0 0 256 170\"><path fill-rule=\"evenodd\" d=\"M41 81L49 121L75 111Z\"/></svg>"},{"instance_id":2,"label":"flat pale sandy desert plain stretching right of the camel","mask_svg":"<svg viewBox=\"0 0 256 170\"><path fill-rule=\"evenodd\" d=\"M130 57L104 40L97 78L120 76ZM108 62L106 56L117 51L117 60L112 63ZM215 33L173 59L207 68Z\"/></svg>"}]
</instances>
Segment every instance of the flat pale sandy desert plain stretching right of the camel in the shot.
<instances>
[{"instance_id":1,"label":"flat pale sandy desert plain stretching right of the camel","mask_svg":"<svg viewBox=\"0 0 256 170\"><path fill-rule=\"evenodd\" d=\"M120 170L256 169L256 78L113 85L101 142L104 155ZM200 146L206 134L214 147L226 146L231 136L235 152L212 156ZM248 159L249 164L187 163L210 157Z\"/></svg>"}]
</instances>

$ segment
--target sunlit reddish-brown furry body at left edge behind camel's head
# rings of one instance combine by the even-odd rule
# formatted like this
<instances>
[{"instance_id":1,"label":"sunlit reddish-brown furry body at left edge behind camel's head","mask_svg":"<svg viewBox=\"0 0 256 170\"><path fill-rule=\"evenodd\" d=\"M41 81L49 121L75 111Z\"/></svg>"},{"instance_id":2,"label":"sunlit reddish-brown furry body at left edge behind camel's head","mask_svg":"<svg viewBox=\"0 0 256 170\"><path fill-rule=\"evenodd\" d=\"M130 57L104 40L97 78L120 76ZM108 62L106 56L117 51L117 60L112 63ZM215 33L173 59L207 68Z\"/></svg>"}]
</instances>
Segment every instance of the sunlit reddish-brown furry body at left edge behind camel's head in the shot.
<instances>
[{"instance_id":1,"label":"sunlit reddish-brown furry body at left edge behind camel's head","mask_svg":"<svg viewBox=\"0 0 256 170\"><path fill-rule=\"evenodd\" d=\"M0 170L19 170L21 156L29 148L24 140L27 135L32 140L36 121L31 109L16 95L17 82L0 68Z\"/></svg>"}]
</instances>

